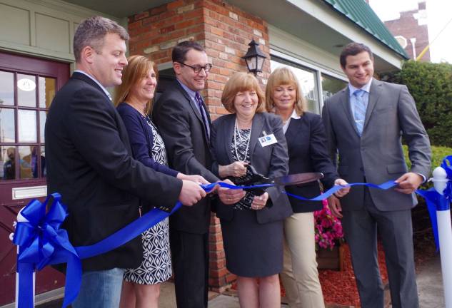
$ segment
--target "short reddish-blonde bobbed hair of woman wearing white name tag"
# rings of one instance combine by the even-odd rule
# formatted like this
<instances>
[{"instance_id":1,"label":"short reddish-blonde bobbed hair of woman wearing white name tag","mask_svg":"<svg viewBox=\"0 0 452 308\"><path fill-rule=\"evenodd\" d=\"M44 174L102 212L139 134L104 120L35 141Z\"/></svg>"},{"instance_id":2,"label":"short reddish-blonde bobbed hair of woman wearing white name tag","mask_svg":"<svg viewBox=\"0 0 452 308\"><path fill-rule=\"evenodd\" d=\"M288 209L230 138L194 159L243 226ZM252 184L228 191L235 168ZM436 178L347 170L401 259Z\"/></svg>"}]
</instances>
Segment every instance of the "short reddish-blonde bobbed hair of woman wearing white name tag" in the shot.
<instances>
[{"instance_id":1,"label":"short reddish-blonde bobbed hair of woman wearing white name tag","mask_svg":"<svg viewBox=\"0 0 452 308\"><path fill-rule=\"evenodd\" d=\"M258 97L258 103L256 113L262 113L265 109L265 97L263 91L256 77L251 73L234 73L231 78L226 82L223 93L221 94L221 103L224 108L230 113L236 113L236 108L233 105L233 101L236 98L238 92L243 91L256 91Z\"/></svg>"}]
</instances>

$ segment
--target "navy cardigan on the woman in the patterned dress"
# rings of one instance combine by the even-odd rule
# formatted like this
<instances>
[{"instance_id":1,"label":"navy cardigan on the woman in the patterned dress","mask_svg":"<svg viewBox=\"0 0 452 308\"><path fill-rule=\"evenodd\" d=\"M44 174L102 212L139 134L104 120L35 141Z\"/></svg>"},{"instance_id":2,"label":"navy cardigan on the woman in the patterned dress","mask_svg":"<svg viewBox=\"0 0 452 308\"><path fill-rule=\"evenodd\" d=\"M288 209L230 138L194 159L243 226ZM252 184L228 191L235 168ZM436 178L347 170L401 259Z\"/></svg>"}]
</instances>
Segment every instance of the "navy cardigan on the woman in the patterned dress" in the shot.
<instances>
[{"instance_id":1,"label":"navy cardigan on the woman in the patterned dress","mask_svg":"<svg viewBox=\"0 0 452 308\"><path fill-rule=\"evenodd\" d=\"M178 173L176 170L161 165L152 158L154 135L146 118L128 103L120 103L116 110L126 125L134 158L156 171L175 177Z\"/></svg>"}]
</instances>

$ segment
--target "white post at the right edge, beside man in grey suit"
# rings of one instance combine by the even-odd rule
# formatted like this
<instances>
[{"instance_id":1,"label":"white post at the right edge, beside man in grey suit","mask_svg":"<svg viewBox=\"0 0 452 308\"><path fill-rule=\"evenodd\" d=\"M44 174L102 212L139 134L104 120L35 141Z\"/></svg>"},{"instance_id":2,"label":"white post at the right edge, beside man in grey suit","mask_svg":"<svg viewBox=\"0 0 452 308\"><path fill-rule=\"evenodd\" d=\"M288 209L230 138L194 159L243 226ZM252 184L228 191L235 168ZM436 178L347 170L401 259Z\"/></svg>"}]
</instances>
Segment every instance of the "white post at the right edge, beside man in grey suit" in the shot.
<instances>
[{"instance_id":1,"label":"white post at the right edge, beside man in grey suit","mask_svg":"<svg viewBox=\"0 0 452 308\"><path fill-rule=\"evenodd\" d=\"M441 195L440 202L448 202L443 196L448 179L446 170L441 167L433 170L433 185ZM444 203L443 203L444 204ZM439 250L441 255L441 272L443 274L444 302L446 308L452 308L452 225L450 205L447 209L436 210L438 220Z\"/></svg>"}]
</instances>

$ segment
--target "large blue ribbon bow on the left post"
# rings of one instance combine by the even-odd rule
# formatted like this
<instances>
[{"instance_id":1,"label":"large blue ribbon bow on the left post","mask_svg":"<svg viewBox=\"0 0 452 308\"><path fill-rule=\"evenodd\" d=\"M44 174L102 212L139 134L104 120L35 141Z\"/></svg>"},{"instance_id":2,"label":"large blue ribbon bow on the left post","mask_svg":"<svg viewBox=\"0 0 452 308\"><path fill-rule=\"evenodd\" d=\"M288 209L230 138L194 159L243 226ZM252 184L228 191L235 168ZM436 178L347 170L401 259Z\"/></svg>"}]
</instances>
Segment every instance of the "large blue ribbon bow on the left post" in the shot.
<instances>
[{"instance_id":1,"label":"large blue ribbon bow on the left post","mask_svg":"<svg viewBox=\"0 0 452 308\"><path fill-rule=\"evenodd\" d=\"M53 202L49 212L46 213L46 205L50 197L53 198ZM74 301L79 293L81 262L76 250L69 242L66 230L60 229L68 215L60 199L61 195L54 193L44 202L32 200L19 212L18 217L21 215L24 221L17 222L13 237L14 244L19 246L17 307L33 307L33 273L35 270L42 270L46 265L67 263L63 307Z\"/></svg>"}]
</instances>

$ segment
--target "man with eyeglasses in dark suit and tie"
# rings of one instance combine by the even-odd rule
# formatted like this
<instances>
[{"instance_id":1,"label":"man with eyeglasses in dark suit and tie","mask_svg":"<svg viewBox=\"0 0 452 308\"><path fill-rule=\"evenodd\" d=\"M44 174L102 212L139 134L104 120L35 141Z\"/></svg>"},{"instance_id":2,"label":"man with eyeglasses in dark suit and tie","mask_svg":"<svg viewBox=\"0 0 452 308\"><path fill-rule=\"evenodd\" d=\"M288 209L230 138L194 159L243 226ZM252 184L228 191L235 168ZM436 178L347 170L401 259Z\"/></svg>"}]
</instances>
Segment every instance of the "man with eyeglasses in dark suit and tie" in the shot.
<instances>
[{"instance_id":1,"label":"man with eyeglasses in dark suit and tie","mask_svg":"<svg viewBox=\"0 0 452 308\"><path fill-rule=\"evenodd\" d=\"M209 170L212 165L211 120L199 93L204 89L212 65L204 48L194 41L175 46L172 59L176 81L156 102L154 123L164 138L171 167L188 175L202 175L214 183L219 179ZM240 200L243 192L227 190L226 193L228 199ZM222 200L224 194L219 191ZM210 209L209 198L204 198L191 210L181 208L169 219L179 308L207 307Z\"/></svg>"}]
</instances>

